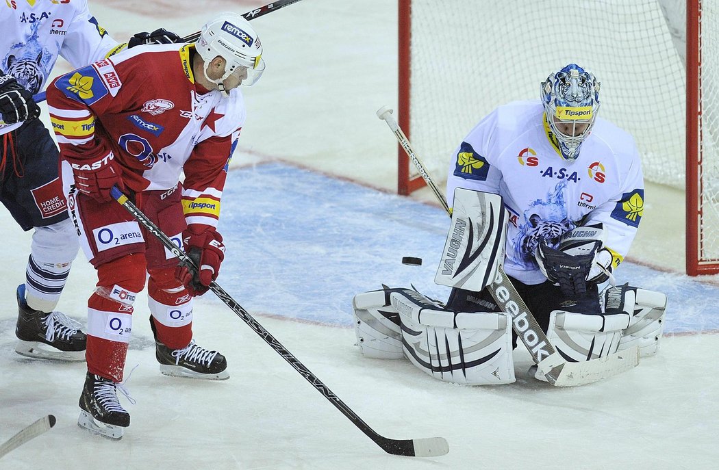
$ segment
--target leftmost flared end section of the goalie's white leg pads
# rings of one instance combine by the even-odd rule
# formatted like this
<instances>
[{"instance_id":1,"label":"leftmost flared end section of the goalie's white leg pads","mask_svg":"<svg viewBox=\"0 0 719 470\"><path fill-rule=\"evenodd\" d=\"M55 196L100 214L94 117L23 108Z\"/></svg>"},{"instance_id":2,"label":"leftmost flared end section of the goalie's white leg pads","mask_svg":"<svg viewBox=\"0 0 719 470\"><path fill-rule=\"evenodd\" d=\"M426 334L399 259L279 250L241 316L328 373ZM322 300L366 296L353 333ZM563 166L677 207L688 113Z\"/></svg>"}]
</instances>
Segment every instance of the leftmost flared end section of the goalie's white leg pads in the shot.
<instances>
[{"instance_id":1,"label":"leftmost flared end section of the goalie's white leg pads","mask_svg":"<svg viewBox=\"0 0 719 470\"><path fill-rule=\"evenodd\" d=\"M392 291L372 290L352 299L354 333L363 356L404 359L399 314L390 305L389 292Z\"/></svg>"}]
</instances>

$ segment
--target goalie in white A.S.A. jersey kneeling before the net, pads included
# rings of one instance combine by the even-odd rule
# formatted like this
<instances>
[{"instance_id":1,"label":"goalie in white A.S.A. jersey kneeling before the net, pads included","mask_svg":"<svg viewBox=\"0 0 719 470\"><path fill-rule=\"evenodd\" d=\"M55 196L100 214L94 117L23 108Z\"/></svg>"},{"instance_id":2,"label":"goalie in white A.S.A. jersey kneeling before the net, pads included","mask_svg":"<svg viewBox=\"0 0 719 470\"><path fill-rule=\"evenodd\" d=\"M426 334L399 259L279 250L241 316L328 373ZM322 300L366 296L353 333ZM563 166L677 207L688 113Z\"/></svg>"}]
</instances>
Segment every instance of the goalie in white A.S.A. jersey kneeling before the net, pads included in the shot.
<instances>
[{"instance_id":1,"label":"goalie in white A.S.A. jersey kneeling before the net, pads included","mask_svg":"<svg viewBox=\"0 0 719 470\"><path fill-rule=\"evenodd\" d=\"M565 360L656 353L666 295L613 277L644 211L641 162L599 108L600 83L569 64L541 83L540 101L500 106L472 129L447 180L453 219L435 280L452 287L449 300L410 289L356 295L362 354L407 357L448 382L514 382L513 316L485 288L500 262Z\"/></svg>"}]
</instances>

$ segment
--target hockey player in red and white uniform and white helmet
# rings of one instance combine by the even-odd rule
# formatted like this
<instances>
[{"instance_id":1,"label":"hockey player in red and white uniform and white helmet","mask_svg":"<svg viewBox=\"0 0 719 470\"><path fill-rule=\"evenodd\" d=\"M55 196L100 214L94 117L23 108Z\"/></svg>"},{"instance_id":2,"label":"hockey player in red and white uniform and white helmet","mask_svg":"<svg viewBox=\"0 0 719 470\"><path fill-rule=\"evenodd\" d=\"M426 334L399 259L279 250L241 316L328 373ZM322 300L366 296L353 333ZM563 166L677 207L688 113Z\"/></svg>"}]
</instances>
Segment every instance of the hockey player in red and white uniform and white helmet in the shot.
<instances>
[{"instance_id":1,"label":"hockey player in red and white uniform and white helmet","mask_svg":"<svg viewBox=\"0 0 719 470\"><path fill-rule=\"evenodd\" d=\"M88 300L81 426L122 438L129 425L116 389L126 391L121 382L133 303L146 275L160 371L229 377L224 356L193 339L193 297L208 290L224 259L216 226L245 118L237 87L252 85L264 69L254 29L240 15L224 13L203 27L195 44L134 47L48 87L70 216L98 273ZM115 185L196 260L198 272L178 266L111 198Z\"/></svg>"}]
</instances>

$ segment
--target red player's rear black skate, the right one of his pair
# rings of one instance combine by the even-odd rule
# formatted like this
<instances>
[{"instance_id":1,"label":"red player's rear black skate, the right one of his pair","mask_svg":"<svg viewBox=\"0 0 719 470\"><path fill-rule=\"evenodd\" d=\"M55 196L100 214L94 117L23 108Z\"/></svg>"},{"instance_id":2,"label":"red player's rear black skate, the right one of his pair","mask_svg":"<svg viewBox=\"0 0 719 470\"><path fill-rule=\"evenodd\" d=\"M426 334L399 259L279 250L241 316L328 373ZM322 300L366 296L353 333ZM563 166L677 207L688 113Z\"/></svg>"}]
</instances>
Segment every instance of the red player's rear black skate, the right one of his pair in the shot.
<instances>
[{"instance_id":1,"label":"red player's rear black skate, the right one of his pair","mask_svg":"<svg viewBox=\"0 0 719 470\"><path fill-rule=\"evenodd\" d=\"M183 349L170 349L157 341L157 331L152 317L150 317L150 326L155 335L155 357L160 363L162 374L190 379L229 379L225 356L198 346L194 339Z\"/></svg>"}]
</instances>

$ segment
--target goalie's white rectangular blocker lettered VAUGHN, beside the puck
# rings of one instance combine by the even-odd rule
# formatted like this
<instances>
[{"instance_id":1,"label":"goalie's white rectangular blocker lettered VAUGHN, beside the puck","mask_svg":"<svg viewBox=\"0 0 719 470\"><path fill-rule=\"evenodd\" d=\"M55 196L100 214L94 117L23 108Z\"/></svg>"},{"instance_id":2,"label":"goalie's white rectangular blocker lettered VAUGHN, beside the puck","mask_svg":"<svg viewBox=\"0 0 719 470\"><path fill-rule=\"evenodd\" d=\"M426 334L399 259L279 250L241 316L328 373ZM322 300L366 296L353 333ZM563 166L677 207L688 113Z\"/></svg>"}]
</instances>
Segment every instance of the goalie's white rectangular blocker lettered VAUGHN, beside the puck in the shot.
<instances>
[{"instance_id":1,"label":"goalie's white rectangular blocker lettered VAUGHN, beside the puck","mask_svg":"<svg viewBox=\"0 0 719 470\"><path fill-rule=\"evenodd\" d=\"M434 282L480 292L504 259L507 214L498 194L454 190L452 225Z\"/></svg>"}]
</instances>

